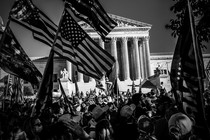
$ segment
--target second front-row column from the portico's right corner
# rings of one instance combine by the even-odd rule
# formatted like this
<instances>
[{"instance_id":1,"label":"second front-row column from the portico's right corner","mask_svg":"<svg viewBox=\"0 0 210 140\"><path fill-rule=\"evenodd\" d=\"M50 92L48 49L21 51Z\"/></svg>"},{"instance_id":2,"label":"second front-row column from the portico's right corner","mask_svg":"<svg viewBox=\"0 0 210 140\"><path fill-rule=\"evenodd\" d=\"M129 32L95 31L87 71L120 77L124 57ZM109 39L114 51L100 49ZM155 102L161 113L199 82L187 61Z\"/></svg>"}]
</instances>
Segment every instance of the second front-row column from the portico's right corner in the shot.
<instances>
[{"instance_id":1,"label":"second front-row column from the portico's right corner","mask_svg":"<svg viewBox=\"0 0 210 140\"><path fill-rule=\"evenodd\" d=\"M136 73L136 79L140 79L140 60L139 60L139 47L138 47L138 37L133 38L133 46L134 46L134 57L135 57L135 73Z\"/></svg>"}]
</instances>

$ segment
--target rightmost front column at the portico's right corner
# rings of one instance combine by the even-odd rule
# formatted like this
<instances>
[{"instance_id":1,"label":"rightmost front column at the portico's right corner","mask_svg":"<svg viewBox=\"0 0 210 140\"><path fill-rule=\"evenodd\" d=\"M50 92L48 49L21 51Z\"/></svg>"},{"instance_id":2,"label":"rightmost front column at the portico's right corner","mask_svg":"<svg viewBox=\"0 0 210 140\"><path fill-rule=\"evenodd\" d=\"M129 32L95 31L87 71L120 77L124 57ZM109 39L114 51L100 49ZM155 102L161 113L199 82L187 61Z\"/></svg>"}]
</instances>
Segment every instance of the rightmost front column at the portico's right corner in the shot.
<instances>
[{"instance_id":1,"label":"rightmost front column at the portico's right corner","mask_svg":"<svg viewBox=\"0 0 210 140\"><path fill-rule=\"evenodd\" d=\"M145 42L145 53L146 53L146 67L147 67L147 76L151 76L151 64L150 64L150 48L149 48L149 36L144 37L144 42Z\"/></svg>"}]
</instances>

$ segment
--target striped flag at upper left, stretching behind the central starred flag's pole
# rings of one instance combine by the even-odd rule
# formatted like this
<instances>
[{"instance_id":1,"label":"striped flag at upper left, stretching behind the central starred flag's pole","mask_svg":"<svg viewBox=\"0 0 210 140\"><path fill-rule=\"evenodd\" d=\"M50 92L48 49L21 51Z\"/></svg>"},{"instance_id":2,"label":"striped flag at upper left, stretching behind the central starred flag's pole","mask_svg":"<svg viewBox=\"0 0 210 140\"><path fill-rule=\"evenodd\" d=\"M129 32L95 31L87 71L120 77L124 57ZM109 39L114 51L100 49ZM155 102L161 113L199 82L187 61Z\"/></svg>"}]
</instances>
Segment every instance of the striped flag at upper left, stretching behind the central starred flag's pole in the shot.
<instances>
[{"instance_id":1,"label":"striped flag at upper left, stretching behind the central starred flag's pole","mask_svg":"<svg viewBox=\"0 0 210 140\"><path fill-rule=\"evenodd\" d=\"M31 30L34 39L52 47L58 26L30 0L16 0L10 11L10 18L11 21ZM58 37L54 46L56 54L77 64L68 42Z\"/></svg>"}]
</instances>

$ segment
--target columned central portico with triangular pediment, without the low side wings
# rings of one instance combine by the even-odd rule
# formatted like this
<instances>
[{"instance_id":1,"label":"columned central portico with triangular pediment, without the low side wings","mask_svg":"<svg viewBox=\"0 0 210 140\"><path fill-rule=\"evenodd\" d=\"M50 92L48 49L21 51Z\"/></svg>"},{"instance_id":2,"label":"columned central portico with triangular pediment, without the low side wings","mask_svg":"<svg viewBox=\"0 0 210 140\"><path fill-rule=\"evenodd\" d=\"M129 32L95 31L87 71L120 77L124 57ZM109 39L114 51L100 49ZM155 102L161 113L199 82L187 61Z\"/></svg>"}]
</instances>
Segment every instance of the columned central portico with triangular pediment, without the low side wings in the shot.
<instances>
[{"instance_id":1,"label":"columned central portico with triangular pediment, without the low side wings","mask_svg":"<svg viewBox=\"0 0 210 140\"><path fill-rule=\"evenodd\" d=\"M107 36L111 40L108 43L103 42L88 24L79 22L89 36L117 60L116 71L109 79L112 81L117 76L120 81L133 81L150 76L149 31L152 25L112 14L110 17L118 25ZM67 62L67 70L72 77L75 69L70 62ZM84 80L87 81L87 78L78 73L78 82Z\"/></svg>"}]
</instances>

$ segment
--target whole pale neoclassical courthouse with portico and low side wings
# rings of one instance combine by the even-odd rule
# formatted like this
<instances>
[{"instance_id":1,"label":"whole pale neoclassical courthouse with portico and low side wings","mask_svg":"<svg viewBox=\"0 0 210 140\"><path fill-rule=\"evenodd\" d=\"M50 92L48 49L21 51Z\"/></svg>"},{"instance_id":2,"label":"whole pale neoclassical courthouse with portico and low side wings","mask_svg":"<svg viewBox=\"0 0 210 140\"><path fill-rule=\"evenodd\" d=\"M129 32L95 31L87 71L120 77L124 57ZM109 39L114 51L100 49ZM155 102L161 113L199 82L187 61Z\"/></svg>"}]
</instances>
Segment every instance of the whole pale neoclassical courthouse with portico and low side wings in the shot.
<instances>
[{"instance_id":1,"label":"whole pale neoclassical courthouse with portico and low side wings","mask_svg":"<svg viewBox=\"0 0 210 140\"><path fill-rule=\"evenodd\" d=\"M168 71L170 71L173 53L150 53L149 31L152 25L112 14L110 14L110 17L118 25L107 36L111 40L108 43L103 42L100 36L88 24L82 21L78 22L100 47L108 51L117 60L115 69L109 76L109 80L113 81L117 77L120 91L131 90L133 81L136 85L139 85L140 81L153 75L154 70L159 67L161 69L160 80L170 90ZM31 59L40 72L43 73L48 56ZM204 55L205 67L209 60L210 55ZM63 87L67 93L75 91L75 80L81 91L85 92L95 88L96 83L94 79L82 73L77 73L76 66L56 56L54 58L54 89L59 89L57 79L62 77L62 71L64 69L68 71L68 77L71 79L71 81L63 81ZM7 73L0 70L0 78L5 75ZM102 82L105 83L105 79Z\"/></svg>"}]
</instances>

